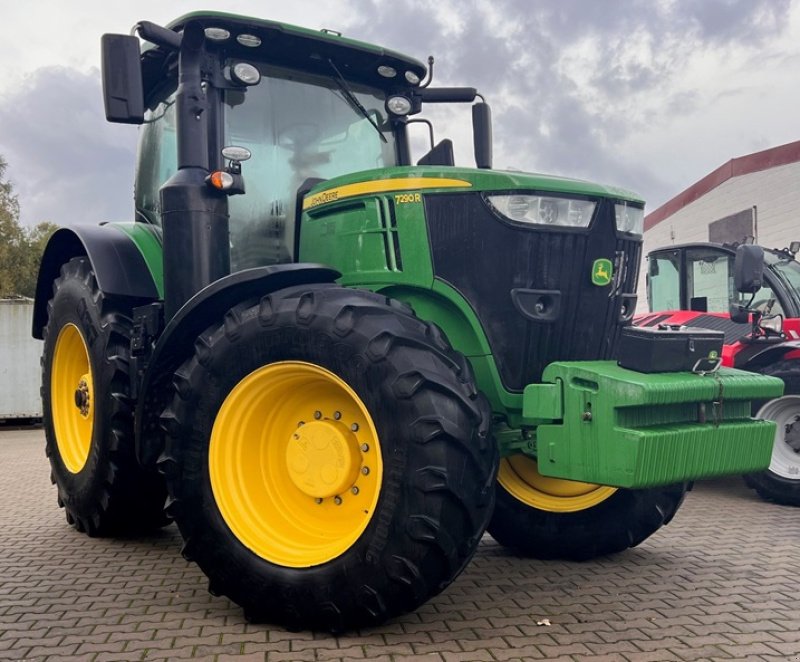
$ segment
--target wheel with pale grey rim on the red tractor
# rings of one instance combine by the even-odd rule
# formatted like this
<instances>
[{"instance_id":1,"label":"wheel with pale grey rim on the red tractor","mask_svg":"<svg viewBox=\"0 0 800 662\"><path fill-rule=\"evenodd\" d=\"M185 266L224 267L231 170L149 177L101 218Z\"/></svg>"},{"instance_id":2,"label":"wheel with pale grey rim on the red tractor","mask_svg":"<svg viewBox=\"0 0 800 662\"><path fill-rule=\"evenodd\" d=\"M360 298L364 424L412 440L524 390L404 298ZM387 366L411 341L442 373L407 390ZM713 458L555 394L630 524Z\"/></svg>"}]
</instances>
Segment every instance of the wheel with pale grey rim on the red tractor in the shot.
<instances>
[{"instance_id":1,"label":"wheel with pale grey rim on the red tractor","mask_svg":"<svg viewBox=\"0 0 800 662\"><path fill-rule=\"evenodd\" d=\"M780 377L784 395L753 407L756 418L775 421L778 429L769 468L744 479L762 499L800 506L800 361L778 361L761 372Z\"/></svg>"}]
</instances>

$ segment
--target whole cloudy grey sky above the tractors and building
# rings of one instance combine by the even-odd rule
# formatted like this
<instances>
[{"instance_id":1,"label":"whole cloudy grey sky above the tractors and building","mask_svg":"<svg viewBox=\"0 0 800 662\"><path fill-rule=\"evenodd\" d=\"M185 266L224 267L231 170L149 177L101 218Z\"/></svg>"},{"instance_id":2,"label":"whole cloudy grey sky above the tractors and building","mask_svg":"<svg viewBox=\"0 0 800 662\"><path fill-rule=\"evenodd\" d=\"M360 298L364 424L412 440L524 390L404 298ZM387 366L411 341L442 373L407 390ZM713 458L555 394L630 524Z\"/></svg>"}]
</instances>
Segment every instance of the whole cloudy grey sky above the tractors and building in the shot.
<instances>
[{"instance_id":1,"label":"whole cloudy grey sky above the tractors and building","mask_svg":"<svg viewBox=\"0 0 800 662\"><path fill-rule=\"evenodd\" d=\"M209 3L207 3L209 4ZM205 6L207 6L207 4ZM425 61L492 105L495 167L638 191L653 210L735 156L800 139L800 0L237 0ZM0 155L23 223L132 218L136 128L103 118L100 35L185 0L3 7ZM439 118L470 165L468 113Z\"/></svg>"}]
</instances>

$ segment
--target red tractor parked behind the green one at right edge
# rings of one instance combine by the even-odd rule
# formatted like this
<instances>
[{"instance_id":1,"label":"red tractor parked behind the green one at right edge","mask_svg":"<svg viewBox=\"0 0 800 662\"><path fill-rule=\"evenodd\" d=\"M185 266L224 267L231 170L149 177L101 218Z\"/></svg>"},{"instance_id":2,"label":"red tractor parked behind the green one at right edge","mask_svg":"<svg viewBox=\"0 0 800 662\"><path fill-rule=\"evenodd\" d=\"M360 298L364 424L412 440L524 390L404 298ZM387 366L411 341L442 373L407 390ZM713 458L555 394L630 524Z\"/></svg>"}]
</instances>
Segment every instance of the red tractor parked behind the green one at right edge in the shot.
<instances>
[{"instance_id":1,"label":"red tractor parked behind the green one at right edge","mask_svg":"<svg viewBox=\"0 0 800 662\"><path fill-rule=\"evenodd\" d=\"M695 243L647 256L650 313L638 326L722 331L721 364L783 379L784 395L757 402L753 415L778 424L769 469L745 476L769 501L800 506L800 242L782 250ZM737 290L736 260L763 261L761 288Z\"/></svg>"}]
</instances>

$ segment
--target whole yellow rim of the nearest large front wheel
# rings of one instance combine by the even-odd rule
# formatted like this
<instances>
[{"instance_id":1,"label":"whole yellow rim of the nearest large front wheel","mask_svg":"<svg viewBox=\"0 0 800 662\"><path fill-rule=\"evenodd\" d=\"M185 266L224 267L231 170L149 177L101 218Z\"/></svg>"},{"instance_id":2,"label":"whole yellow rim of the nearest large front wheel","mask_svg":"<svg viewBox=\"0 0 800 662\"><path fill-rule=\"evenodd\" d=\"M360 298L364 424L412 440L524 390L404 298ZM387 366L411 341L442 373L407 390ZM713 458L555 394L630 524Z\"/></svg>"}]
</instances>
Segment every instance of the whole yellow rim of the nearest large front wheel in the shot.
<instances>
[{"instance_id":1,"label":"whole yellow rim of the nearest large front wheel","mask_svg":"<svg viewBox=\"0 0 800 662\"><path fill-rule=\"evenodd\" d=\"M208 462L233 534L261 558L295 568L330 561L359 539L383 478L378 433L355 391L295 361L259 368L231 390Z\"/></svg>"}]
</instances>

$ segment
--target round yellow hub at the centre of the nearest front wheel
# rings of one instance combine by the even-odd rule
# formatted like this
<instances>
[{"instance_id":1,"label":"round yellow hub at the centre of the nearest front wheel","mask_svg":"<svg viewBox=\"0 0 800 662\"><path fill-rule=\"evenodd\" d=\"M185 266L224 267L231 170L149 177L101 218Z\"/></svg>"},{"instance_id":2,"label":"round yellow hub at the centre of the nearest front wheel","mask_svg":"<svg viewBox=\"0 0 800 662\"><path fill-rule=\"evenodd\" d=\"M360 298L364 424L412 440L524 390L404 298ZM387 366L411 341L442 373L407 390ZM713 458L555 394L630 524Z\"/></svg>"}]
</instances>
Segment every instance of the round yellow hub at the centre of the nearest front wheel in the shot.
<instances>
[{"instance_id":1,"label":"round yellow hub at the centre of the nearest front wheel","mask_svg":"<svg viewBox=\"0 0 800 662\"><path fill-rule=\"evenodd\" d=\"M292 433L286 466L292 482L305 494L315 499L342 494L358 477L358 440L338 421L311 421Z\"/></svg>"}]
</instances>

